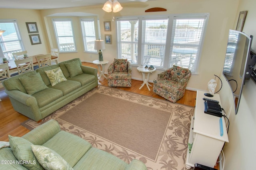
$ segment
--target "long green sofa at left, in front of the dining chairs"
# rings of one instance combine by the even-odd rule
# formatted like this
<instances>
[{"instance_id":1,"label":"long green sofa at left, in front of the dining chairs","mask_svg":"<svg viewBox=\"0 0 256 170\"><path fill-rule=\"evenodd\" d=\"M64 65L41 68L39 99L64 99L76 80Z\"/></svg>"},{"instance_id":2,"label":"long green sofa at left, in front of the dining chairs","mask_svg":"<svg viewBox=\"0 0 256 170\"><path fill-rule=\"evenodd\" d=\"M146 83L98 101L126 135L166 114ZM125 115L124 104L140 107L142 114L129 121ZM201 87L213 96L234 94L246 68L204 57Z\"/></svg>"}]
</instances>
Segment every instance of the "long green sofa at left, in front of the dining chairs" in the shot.
<instances>
[{"instance_id":1,"label":"long green sofa at left, in front of the dining chairs","mask_svg":"<svg viewBox=\"0 0 256 170\"><path fill-rule=\"evenodd\" d=\"M60 70L58 67L63 73L60 77L64 75L66 80L52 86L45 71ZM14 110L40 121L98 86L97 72L96 68L82 66L80 59L71 59L10 77L2 84Z\"/></svg>"}]
</instances>

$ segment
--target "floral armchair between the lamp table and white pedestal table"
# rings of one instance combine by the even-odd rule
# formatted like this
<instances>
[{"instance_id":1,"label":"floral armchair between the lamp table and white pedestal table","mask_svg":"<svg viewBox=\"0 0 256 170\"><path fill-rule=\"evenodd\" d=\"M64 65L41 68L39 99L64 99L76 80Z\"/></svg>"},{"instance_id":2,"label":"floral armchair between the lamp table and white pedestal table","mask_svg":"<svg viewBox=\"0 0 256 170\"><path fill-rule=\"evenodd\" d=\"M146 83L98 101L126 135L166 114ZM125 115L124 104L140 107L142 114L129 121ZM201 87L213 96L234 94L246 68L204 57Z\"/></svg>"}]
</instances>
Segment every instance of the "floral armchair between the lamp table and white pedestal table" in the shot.
<instances>
[{"instance_id":1,"label":"floral armchair between the lamp table and white pedestal table","mask_svg":"<svg viewBox=\"0 0 256 170\"><path fill-rule=\"evenodd\" d=\"M114 59L108 67L108 86L132 86L132 66L127 59Z\"/></svg>"}]
</instances>

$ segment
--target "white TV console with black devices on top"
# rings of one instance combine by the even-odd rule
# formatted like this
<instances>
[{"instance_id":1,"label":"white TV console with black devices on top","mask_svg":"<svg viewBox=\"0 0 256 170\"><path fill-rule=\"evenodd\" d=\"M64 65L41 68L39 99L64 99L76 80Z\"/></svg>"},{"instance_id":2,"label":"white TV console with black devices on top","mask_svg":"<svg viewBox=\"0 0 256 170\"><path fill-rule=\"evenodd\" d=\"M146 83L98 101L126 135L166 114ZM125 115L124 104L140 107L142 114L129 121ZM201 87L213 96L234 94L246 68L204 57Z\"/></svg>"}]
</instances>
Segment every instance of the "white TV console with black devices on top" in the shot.
<instances>
[{"instance_id":1,"label":"white TV console with black devices on top","mask_svg":"<svg viewBox=\"0 0 256 170\"><path fill-rule=\"evenodd\" d=\"M195 163L213 168L222 150L224 142L228 142L228 134L224 117L204 113L204 100L209 98L204 96L203 91L197 91L196 107L191 120L190 135L188 143L192 144L186 156L186 168L194 167ZM220 102L219 94L214 94L212 100ZM219 103L221 106L221 102ZM220 119L223 125L223 136L220 135Z\"/></svg>"}]
</instances>

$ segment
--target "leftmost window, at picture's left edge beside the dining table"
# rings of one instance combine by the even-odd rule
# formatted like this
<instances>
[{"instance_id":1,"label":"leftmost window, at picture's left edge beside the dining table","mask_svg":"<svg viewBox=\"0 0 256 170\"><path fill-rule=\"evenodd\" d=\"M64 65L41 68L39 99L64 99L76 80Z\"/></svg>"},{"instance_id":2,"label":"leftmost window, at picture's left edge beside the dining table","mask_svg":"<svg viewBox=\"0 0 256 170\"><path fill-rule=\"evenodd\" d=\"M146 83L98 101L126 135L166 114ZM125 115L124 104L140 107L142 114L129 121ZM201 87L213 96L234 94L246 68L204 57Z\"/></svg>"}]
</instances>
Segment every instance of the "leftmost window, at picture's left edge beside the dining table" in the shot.
<instances>
[{"instance_id":1,"label":"leftmost window, at picture's left edge beside the dining table","mask_svg":"<svg viewBox=\"0 0 256 170\"><path fill-rule=\"evenodd\" d=\"M24 51L20 31L16 20L0 20L0 29L5 32L0 36L3 57L14 60L12 53Z\"/></svg>"}]
</instances>

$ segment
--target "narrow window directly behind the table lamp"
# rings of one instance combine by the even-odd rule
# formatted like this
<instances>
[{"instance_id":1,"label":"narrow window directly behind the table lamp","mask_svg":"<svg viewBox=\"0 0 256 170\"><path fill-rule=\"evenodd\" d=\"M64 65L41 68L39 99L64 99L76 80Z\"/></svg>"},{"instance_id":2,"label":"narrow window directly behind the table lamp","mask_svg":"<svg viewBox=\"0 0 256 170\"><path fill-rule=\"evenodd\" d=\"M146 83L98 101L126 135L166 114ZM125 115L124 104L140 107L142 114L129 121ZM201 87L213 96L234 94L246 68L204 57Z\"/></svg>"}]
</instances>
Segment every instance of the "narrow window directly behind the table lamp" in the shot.
<instances>
[{"instance_id":1,"label":"narrow window directly behind the table lamp","mask_svg":"<svg viewBox=\"0 0 256 170\"><path fill-rule=\"evenodd\" d=\"M82 34L84 40L84 51L97 52L94 49L94 41L96 40L96 31L93 19L80 19L82 26Z\"/></svg>"}]
</instances>

